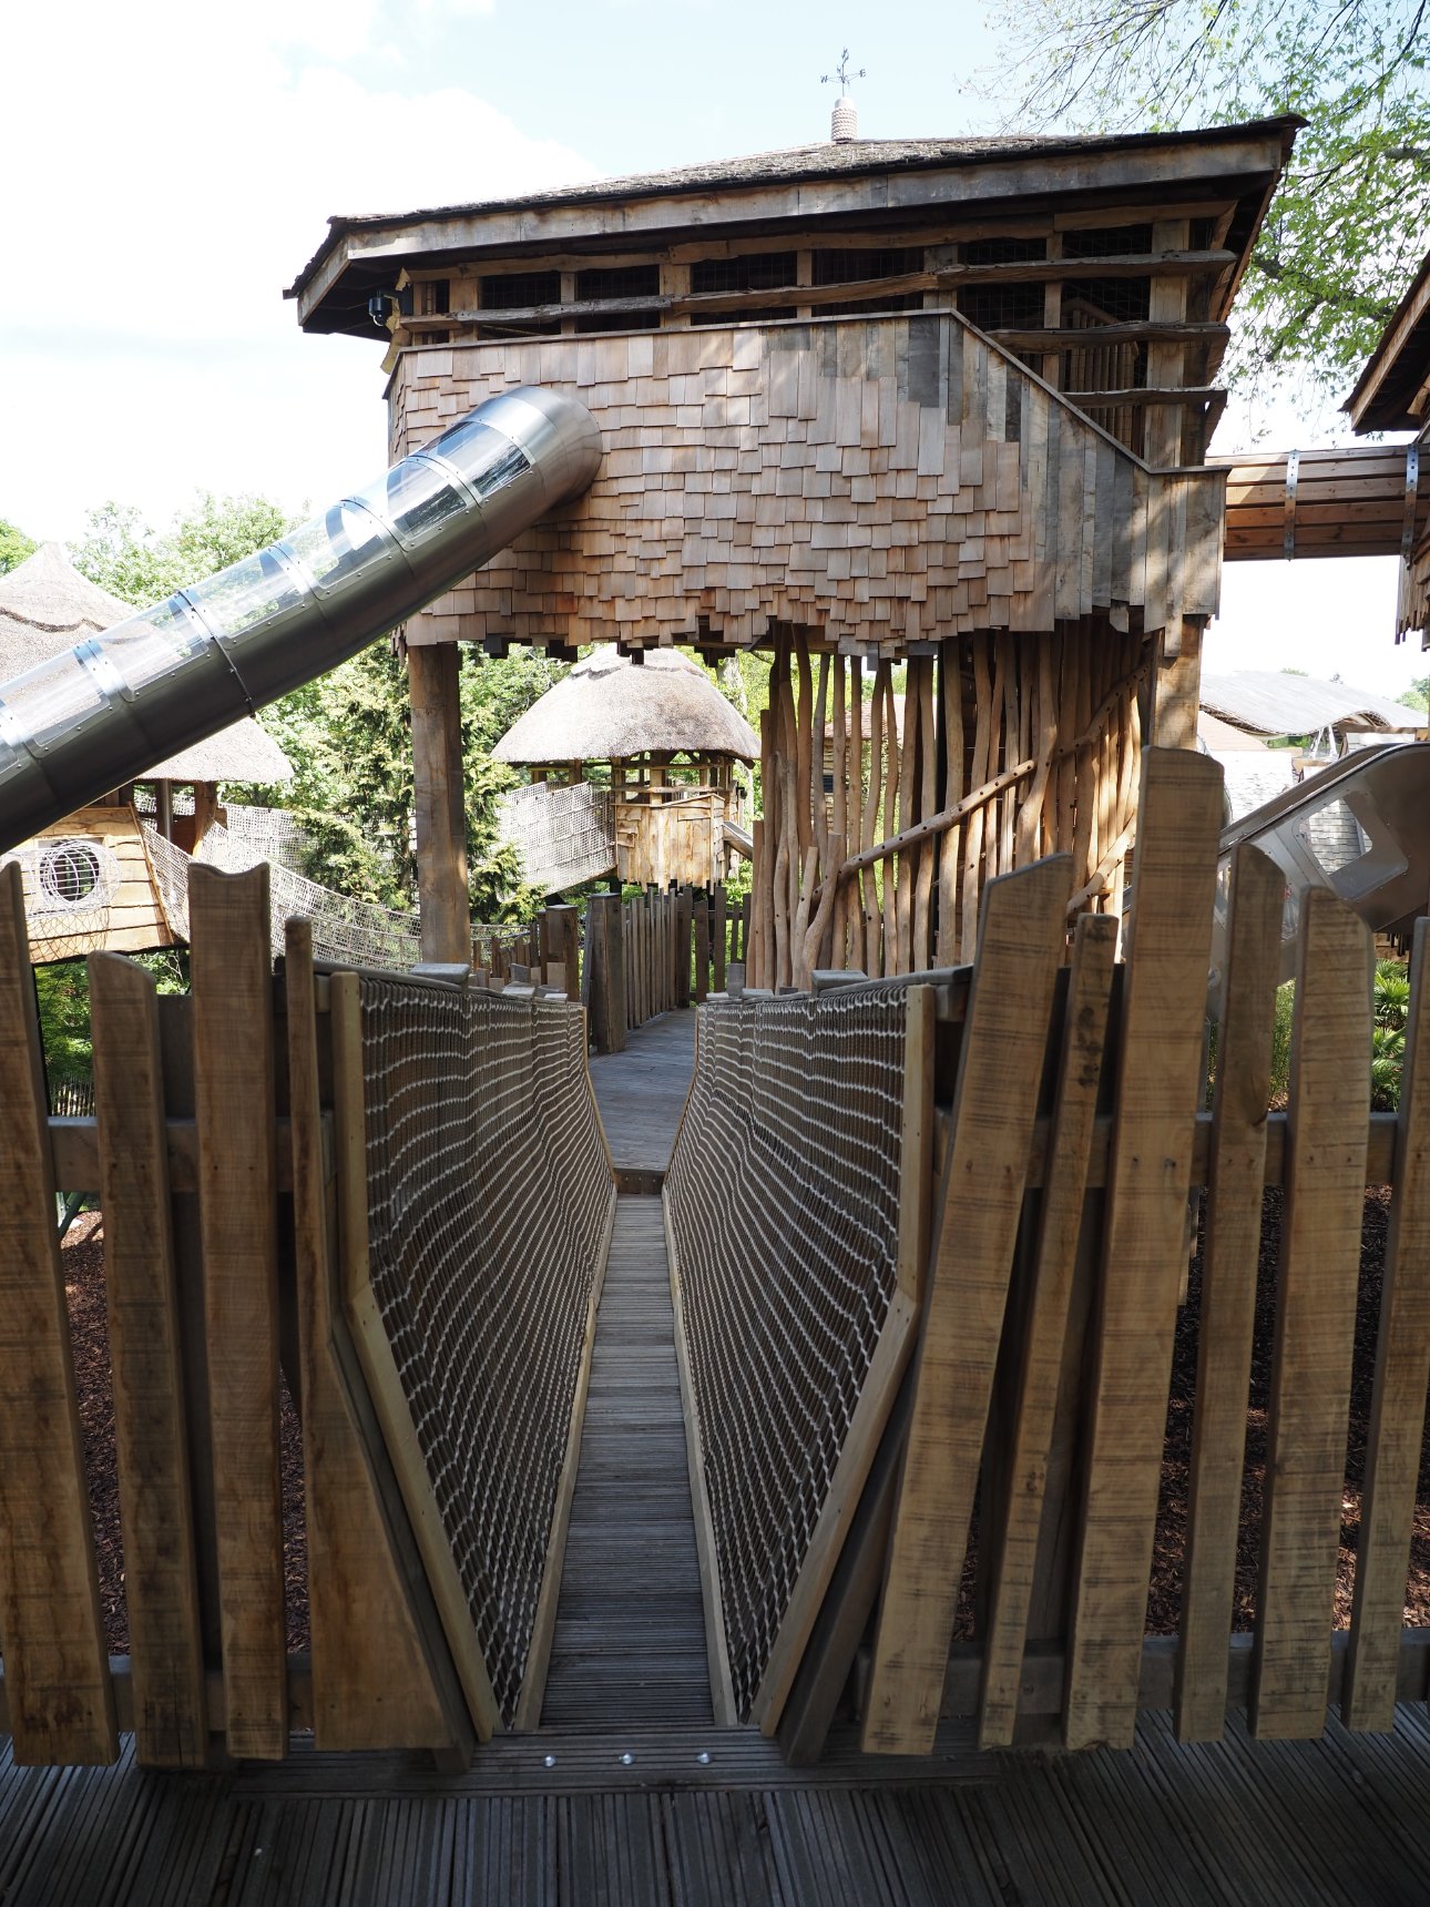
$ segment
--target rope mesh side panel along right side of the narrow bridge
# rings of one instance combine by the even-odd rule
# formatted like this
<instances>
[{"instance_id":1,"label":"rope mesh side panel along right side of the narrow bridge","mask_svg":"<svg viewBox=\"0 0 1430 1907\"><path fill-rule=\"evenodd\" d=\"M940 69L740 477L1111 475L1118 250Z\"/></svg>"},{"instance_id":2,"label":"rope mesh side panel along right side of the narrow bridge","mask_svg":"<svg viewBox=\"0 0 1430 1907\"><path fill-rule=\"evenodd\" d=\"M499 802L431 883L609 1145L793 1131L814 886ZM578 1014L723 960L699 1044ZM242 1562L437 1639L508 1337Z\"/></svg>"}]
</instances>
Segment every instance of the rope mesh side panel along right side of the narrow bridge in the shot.
<instances>
[{"instance_id":1,"label":"rope mesh side panel along right side of the narrow bridge","mask_svg":"<svg viewBox=\"0 0 1430 1907\"><path fill-rule=\"evenodd\" d=\"M908 994L709 1005L665 1200L742 1716L896 1285Z\"/></svg>"}]
</instances>

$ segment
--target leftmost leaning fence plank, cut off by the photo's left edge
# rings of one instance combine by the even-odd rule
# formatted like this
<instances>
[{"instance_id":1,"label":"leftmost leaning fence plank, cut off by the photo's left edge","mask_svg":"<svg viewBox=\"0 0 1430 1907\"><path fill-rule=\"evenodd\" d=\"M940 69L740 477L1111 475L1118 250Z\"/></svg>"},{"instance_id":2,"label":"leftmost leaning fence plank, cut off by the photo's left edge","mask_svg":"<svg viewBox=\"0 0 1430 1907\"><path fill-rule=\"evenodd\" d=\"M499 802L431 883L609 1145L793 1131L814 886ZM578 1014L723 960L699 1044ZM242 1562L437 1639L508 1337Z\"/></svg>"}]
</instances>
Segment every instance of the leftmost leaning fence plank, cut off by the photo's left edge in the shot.
<instances>
[{"instance_id":1,"label":"leftmost leaning fence plank, cut off by the photo's left edge","mask_svg":"<svg viewBox=\"0 0 1430 1907\"><path fill-rule=\"evenodd\" d=\"M0 1650L15 1762L112 1762L19 866L0 868Z\"/></svg>"}]
</instances>

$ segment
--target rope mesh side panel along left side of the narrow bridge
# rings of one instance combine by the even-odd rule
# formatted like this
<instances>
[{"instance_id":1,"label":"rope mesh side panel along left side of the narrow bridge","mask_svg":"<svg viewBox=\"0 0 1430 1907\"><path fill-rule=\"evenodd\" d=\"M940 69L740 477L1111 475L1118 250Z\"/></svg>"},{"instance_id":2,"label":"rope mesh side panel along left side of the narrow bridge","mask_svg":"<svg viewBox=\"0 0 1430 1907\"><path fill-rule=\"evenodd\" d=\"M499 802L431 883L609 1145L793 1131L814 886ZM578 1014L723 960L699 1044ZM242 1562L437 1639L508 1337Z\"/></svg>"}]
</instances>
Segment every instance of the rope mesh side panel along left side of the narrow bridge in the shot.
<instances>
[{"instance_id":1,"label":"rope mesh side panel along left side of the narrow bridge","mask_svg":"<svg viewBox=\"0 0 1430 1907\"><path fill-rule=\"evenodd\" d=\"M614 1198L580 1009L364 974L370 1276L513 1720Z\"/></svg>"}]
</instances>

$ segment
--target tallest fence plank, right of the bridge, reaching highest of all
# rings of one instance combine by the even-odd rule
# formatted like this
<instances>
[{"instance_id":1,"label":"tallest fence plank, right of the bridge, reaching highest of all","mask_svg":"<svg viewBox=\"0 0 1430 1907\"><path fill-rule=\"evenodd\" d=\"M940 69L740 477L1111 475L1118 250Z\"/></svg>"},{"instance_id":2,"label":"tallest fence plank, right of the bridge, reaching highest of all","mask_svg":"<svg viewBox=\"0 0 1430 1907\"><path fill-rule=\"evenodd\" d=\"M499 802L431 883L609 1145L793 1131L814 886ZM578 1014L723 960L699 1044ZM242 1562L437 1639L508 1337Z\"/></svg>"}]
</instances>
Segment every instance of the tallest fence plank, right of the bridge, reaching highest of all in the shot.
<instances>
[{"instance_id":1,"label":"tallest fence plank, right of the bridge, reaching highest of all","mask_svg":"<svg viewBox=\"0 0 1430 1907\"><path fill-rule=\"evenodd\" d=\"M1157 1520L1201 1083L1222 770L1142 757L1091 1428L1073 1569L1066 1745L1125 1745Z\"/></svg>"}]
</instances>

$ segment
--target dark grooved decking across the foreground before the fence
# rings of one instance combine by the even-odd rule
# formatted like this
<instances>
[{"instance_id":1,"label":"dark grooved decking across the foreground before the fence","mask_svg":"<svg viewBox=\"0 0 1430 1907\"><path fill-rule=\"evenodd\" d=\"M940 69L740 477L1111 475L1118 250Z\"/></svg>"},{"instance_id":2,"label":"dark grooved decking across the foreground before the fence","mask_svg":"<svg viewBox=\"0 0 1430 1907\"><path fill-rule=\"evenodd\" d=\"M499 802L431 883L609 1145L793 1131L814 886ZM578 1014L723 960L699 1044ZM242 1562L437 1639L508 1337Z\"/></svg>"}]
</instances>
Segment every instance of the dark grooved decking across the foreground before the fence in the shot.
<instances>
[{"instance_id":1,"label":"dark grooved decking across the foreground before the fence","mask_svg":"<svg viewBox=\"0 0 1430 1907\"><path fill-rule=\"evenodd\" d=\"M976 1754L818 1774L749 1732L500 1737L461 1777L313 1754L231 1775L15 1770L6 1907L1422 1907L1430 1728L1127 1753ZM623 1762L622 1754L631 1760ZM709 1760L698 1760L707 1754Z\"/></svg>"}]
</instances>

